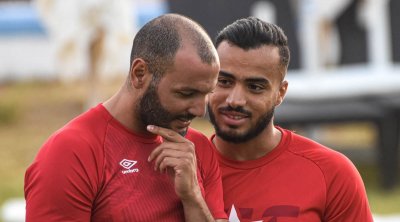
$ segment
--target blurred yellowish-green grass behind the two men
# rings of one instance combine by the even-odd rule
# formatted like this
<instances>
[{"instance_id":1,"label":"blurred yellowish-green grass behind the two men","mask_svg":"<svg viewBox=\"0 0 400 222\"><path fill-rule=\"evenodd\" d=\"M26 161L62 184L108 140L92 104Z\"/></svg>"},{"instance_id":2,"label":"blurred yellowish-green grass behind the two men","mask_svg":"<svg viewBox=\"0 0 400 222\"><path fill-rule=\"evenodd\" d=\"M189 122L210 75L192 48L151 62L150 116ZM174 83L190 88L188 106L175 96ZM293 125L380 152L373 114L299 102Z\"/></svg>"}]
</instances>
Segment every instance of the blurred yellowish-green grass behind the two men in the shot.
<instances>
[{"instance_id":1,"label":"blurred yellowish-green grass behind the two men","mask_svg":"<svg viewBox=\"0 0 400 222\"><path fill-rule=\"evenodd\" d=\"M102 85L102 97L112 95L120 84L121 79ZM0 205L9 198L23 197L26 168L46 138L84 110L86 95L81 83L0 85ZM204 120L196 120L192 126L206 135L212 133ZM400 213L400 185L384 191L379 187L375 165L356 166L364 178L372 211Z\"/></svg>"}]
</instances>

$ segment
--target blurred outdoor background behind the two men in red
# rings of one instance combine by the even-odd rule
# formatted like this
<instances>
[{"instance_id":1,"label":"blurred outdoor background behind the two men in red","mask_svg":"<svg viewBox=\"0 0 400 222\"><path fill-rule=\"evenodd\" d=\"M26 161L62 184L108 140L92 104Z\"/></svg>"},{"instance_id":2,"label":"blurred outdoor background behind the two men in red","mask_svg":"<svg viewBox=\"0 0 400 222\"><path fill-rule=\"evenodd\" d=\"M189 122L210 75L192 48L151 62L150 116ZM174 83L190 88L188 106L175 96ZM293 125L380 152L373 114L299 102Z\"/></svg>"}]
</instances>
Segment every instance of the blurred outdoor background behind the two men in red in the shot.
<instances>
[{"instance_id":1,"label":"blurred outdoor background behind the two men in red","mask_svg":"<svg viewBox=\"0 0 400 222\"><path fill-rule=\"evenodd\" d=\"M347 155L375 220L400 221L399 11L399 0L0 0L0 221L24 221L40 146L118 90L135 33L167 12L212 38L250 15L281 26L292 57L275 122Z\"/></svg>"}]
</instances>

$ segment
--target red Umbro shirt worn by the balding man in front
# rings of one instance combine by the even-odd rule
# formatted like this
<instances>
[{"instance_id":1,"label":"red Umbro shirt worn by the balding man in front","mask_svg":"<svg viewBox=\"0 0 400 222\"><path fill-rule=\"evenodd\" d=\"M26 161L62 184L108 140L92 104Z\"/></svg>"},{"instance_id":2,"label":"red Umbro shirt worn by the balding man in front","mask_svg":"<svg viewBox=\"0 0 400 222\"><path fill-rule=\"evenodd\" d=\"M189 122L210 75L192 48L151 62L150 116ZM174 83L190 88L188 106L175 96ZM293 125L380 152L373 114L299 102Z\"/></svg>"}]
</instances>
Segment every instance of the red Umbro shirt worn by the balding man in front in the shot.
<instances>
[{"instance_id":1,"label":"red Umbro shirt worn by the balding man in front","mask_svg":"<svg viewBox=\"0 0 400 222\"><path fill-rule=\"evenodd\" d=\"M189 129L198 180L215 218L226 218L216 156L207 137ZM103 105L55 132L25 175L29 221L183 221L173 181L147 161L160 136L128 131Z\"/></svg>"}]
</instances>

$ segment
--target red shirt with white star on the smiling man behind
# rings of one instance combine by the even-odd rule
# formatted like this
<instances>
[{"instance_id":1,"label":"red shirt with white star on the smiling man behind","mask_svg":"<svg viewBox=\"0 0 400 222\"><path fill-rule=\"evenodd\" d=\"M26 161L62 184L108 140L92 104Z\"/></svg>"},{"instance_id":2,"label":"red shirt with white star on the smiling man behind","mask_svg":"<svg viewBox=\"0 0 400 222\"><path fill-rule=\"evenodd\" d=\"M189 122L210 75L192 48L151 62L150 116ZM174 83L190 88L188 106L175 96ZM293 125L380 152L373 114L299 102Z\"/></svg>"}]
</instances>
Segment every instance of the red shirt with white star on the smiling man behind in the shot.
<instances>
[{"instance_id":1,"label":"red shirt with white star on the smiling man behind","mask_svg":"<svg viewBox=\"0 0 400 222\"><path fill-rule=\"evenodd\" d=\"M234 161L216 151L230 222L373 221L363 181L348 158L277 128L279 145L259 159Z\"/></svg>"}]
</instances>

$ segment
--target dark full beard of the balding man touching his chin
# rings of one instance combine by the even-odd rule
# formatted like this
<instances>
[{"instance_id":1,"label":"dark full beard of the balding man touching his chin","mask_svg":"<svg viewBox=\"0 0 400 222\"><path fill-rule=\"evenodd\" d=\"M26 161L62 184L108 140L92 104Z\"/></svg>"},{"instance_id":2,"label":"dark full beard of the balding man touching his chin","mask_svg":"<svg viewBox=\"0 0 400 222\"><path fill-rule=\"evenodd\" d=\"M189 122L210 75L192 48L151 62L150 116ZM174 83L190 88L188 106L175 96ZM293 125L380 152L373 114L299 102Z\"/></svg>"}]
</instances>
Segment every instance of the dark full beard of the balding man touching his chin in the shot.
<instances>
[{"instance_id":1,"label":"dark full beard of the balding man touching his chin","mask_svg":"<svg viewBox=\"0 0 400 222\"><path fill-rule=\"evenodd\" d=\"M136 106L136 110L138 110L140 121L144 126L155 125L168 129L172 128L171 122L173 120L191 120L195 117L189 113L176 115L167 111L160 102L160 98L157 94L157 86L153 82L150 84L149 88ZM187 129L178 133L182 136L185 136Z\"/></svg>"}]
</instances>

